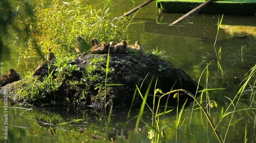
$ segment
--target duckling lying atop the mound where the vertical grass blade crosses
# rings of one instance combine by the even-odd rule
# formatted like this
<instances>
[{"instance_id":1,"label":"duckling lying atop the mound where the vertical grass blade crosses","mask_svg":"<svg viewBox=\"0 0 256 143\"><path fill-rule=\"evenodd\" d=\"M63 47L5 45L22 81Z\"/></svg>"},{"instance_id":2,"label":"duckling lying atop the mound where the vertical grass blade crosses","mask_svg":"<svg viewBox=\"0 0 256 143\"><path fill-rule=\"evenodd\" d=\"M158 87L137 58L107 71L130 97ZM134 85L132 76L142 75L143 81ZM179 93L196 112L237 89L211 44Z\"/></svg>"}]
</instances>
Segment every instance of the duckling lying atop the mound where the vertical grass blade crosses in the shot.
<instances>
[{"instance_id":1,"label":"duckling lying atop the mound where the vertical grass blade crosses","mask_svg":"<svg viewBox=\"0 0 256 143\"><path fill-rule=\"evenodd\" d=\"M115 52L115 47L113 46L114 42L109 42L108 44L106 43L100 43L94 45L88 52L92 54L105 54L108 53L110 50L110 53Z\"/></svg>"}]
</instances>

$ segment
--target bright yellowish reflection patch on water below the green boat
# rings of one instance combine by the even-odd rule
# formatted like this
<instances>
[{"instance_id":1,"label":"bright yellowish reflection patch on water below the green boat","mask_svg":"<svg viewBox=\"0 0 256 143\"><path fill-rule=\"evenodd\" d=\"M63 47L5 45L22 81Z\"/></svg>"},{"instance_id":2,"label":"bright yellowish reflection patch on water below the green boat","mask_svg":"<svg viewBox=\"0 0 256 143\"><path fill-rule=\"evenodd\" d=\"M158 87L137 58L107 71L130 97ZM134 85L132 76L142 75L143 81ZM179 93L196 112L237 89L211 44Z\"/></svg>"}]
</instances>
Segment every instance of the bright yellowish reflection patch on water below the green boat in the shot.
<instances>
[{"instance_id":1,"label":"bright yellowish reflection patch on water below the green boat","mask_svg":"<svg viewBox=\"0 0 256 143\"><path fill-rule=\"evenodd\" d=\"M240 36L243 34L250 34L256 37L256 26L238 26L238 25L220 25L226 33L230 36Z\"/></svg>"}]
</instances>

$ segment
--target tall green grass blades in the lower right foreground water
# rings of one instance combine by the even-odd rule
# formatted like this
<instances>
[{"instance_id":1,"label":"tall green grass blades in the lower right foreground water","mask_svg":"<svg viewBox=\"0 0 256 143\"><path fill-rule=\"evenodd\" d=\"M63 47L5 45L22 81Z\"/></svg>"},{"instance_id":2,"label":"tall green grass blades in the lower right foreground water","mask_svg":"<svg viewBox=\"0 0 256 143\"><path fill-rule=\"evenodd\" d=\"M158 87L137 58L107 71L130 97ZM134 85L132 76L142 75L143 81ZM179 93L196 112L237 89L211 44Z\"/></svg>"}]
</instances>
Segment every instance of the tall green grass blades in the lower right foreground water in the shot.
<instances>
[{"instance_id":1,"label":"tall green grass blades in the lower right foreground water","mask_svg":"<svg viewBox=\"0 0 256 143\"><path fill-rule=\"evenodd\" d=\"M208 65L209 66L209 65ZM207 82L208 82L208 66L204 69L203 73L206 72L206 85L207 85ZM193 108L191 109L191 116L190 116L190 124L191 122L193 122L193 112L195 110L201 110L202 112L202 116L201 116L201 120L202 120L202 126L204 126L205 130L208 132L208 127L207 125L209 125L211 127L211 130L212 132L209 132L209 136L208 136L208 141L207 142L210 142L212 140L212 137L215 136L219 142L226 142L226 139L228 137L228 132L229 132L229 128L239 122L242 122L243 118L236 118L236 120L233 120L234 117L236 116L236 113L238 112L241 112L241 111L245 111L247 112L247 118L250 118L253 122L255 121L255 94L256 94L256 78L255 78L255 72L256 72L256 65L246 74L246 76L244 77L244 80L243 80L243 84L241 85L241 89L238 91L237 95L233 98L233 99L230 99L229 100L231 101L227 107L220 107L221 108L221 111L218 113L219 114L219 121L216 121L216 119L214 119L215 117L212 117L211 116L211 108L214 108L214 107L217 107L218 104L216 101L214 100L210 100L210 96L209 96L209 92L216 92L217 90L225 90L225 89L204 89L202 91L199 91L201 92L201 98L200 100L198 100L193 94L189 93L188 91L185 91L185 90L182 90L182 89L178 89L178 90L172 90L168 93L165 93L165 94L162 94L160 97L159 97L159 101L158 101L158 105L156 105L156 110L154 108L154 103L153 103L153 107L149 107L151 113L152 113L152 124L151 125L148 125L145 123L146 127L148 128L148 130L150 130L148 132L148 138L151 139L151 142L168 142L167 141L167 138L165 138L164 136L166 135L165 132L164 132L164 129L166 128L171 128L171 129L174 129L176 131L176 142L179 142L178 141L178 133L180 132L179 131L179 128L181 128L182 126L184 126L184 123L186 122L186 118L182 118L183 117L183 112L184 112L184 105L182 106L181 109L179 109L179 107L177 107L177 115L176 115L176 125L175 127L168 127L168 126L163 126L161 127L161 116L163 115L166 115L166 113L169 113L171 111L173 111L173 109L171 110L168 110L168 111L163 111L163 112L159 112L159 107L160 107L160 101L162 99L162 97L164 96L168 96L169 94L171 93L176 93L174 94L174 97L178 98L179 100L179 96L182 96L180 95L179 93L180 92L183 92L183 93L186 93L188 96L192 97L195 101L194 105L192 106ZM203 75L202 73L202 75ZM201 76L202 76L201 75ZM201 77L200 77L201 78ZM156 93L159 91L159 89L155 89L156 90ZM138 116L137 116L137 122L136 122L136 126L135 126L135 129L138 127L138 124L139 122L141 121L141 117L143 116L143 112L144 112L144 108L145 108L145 105L147 105L147 103L145 102L145 98L147 97L147 93L142 96L142 93L140 92L140 90L137 88L136 92L138 92L143 100L144 103L141 104L141 108L139 110L139 113L138 113ZM245 96L248 94L250 94L249 96L249 102L248 104L244 104L243 103L243 100L244 99L241 99L242 96ZM203 98L205 95L205 99ZM154 94L154 96L156 96ZM228 97L226 97L228 98ZM205 101L207 101L205 103ZM154 102L155 102L155 98L154 98ZM238 108L238 105L243 105L241 108ZM198 106L198 107L197 107ZM197 108L194 108L194 107L197 107ZM219 107L219 106L218 106ZM252 116L251 116L252 115ZM204 117L203 117L204 116ZM153 118L154 117L154 118ZM206 126L205 126L205 123L203 122L203 119L206 118L207 120L207 123L206 123ZM183 119L183 120L182 120ZM224 120L225 119L225 120ZM229 123L227 125L226 124L226 121L229 121ZM245 142L248 140L248 130L247 130L247 125L245 125L245 132L244 132L244 136L245 136ZM224 130L223 130L224 129ZM219 131L221 130L221 134L219 133ZM225 131L225 132L223 132ZM168 135L167 135L168 136Z\"/></svg>"}]
</instances>

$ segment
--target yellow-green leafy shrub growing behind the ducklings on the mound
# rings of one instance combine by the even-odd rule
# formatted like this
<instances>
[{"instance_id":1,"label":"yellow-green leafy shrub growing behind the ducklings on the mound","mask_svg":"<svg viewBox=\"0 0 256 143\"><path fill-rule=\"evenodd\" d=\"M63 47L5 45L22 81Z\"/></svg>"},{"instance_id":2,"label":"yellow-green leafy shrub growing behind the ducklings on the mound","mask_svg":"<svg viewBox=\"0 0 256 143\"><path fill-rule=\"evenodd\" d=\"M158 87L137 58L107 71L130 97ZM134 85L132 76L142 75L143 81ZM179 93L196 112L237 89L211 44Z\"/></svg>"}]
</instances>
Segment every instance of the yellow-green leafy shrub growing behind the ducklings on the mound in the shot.
<instances>
[{"instance_id":1,"label":"yellow-green leafy shrub growing behind the ducklings on the mound","mask_svg":"<svg viewBox=\"0 0 256 143\"><path fill-rule=\"evenodd\" d=\"M126 37L121 34L123 26L120 26L124 20L108 19L108 9L96 10L81 0L70 3L54 0L50 7L45 7L44 4L44 0L32 4L35 7L34 15L17 21L20 29L27 31L28 37L24 41L28 41L30 51L37 51L39 55L47 53L48 47L55 56L71 55L75 52L77 36L81 36L88 43L91 38L110 42ZM24 49L22 52L25 52Z\"/></svg>"}]
</instances>

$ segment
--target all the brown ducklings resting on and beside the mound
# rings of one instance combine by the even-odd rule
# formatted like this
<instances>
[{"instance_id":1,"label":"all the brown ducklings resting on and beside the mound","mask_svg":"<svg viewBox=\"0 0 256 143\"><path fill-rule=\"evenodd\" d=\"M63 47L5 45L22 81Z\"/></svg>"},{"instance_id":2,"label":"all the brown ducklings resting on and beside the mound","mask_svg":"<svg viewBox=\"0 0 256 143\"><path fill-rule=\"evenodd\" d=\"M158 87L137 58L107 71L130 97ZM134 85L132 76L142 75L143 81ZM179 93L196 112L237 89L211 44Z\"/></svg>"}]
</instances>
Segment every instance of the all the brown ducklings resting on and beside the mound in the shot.
<instances>
[{"instance_id":1,"label":"all the brown ducklings resting on and beside the mound","mask_svg":"<svg viewBox=\"0 0 256 143\"><path fill-rule=\"evenodd\" d=\"M99 43L96 38L92 38L90 40L92 47L87 49L87 42L82 37L77 37L77 42L75 44L75 49L78 53L83 51L92 53L92 54L105 54L105 53L143 53L144 49L140 45L139 41L136 41L134 45L128 45L125 40L122 40L120 43L114 45L114 42L109 43ZM54 53L49 48L49 53L47 54L47 60L38 65L35 69L35 72L32 76L37 75L46 75L49 74L49 71L52 71L54 66L50 66L49 63L52 64L55 60ZM0 87L4 85L20 80L20 75L14 69L10 69L8 74L4 74L0 77Z\"/></svg>"}]
</instances>

